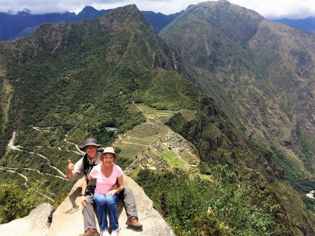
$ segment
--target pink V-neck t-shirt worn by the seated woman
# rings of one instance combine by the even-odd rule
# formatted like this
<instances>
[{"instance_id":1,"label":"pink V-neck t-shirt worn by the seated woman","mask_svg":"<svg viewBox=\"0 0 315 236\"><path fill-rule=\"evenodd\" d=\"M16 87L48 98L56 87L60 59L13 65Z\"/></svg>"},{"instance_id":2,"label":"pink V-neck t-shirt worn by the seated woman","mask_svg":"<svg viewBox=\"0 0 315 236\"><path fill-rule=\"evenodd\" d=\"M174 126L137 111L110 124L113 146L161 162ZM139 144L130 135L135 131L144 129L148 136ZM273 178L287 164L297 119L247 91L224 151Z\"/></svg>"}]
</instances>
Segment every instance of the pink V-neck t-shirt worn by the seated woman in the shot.
<instances>
[{"instance_id":1,"label":"pink V-neck t-shirt worn by the seated woman","mask_svg":"<svg viewBox=\"0 0 315 236\"><path fill-rule=\"evenodd\" d=\"M110 177L106 177L100 171L100 166L102 164L98 164L94 166L90 172L92 178L96 179L96 188L95 194L104 194L106 195L109 192L109 189L116 183L117 177L123 175L123 170L113 163L113 171Z\"/></svg>"}]
</instances>

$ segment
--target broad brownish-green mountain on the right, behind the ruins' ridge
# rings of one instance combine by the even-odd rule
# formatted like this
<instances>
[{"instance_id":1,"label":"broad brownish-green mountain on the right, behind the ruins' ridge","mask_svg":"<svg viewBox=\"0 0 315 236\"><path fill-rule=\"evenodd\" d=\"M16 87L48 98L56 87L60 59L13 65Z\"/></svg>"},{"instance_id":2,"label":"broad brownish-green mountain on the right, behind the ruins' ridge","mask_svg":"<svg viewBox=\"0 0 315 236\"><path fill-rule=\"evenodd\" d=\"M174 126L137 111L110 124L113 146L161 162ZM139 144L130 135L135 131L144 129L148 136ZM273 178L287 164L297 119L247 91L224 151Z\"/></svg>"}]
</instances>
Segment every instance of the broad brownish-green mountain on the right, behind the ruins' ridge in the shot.
<instances>
[{"instance_id":1,"label":"broad brownish-green mountain on the right, behind the ruins' ridge","mask_svg":"<svg viewBox=\"0 0 315 236\"><path fill-rule=\"evenodd\" d=\"M159 35L178 48L199 90L272 150L313 211L305 194L314 188L314 35L227 1L190 5Z\"/></svg>"}]
</instances>

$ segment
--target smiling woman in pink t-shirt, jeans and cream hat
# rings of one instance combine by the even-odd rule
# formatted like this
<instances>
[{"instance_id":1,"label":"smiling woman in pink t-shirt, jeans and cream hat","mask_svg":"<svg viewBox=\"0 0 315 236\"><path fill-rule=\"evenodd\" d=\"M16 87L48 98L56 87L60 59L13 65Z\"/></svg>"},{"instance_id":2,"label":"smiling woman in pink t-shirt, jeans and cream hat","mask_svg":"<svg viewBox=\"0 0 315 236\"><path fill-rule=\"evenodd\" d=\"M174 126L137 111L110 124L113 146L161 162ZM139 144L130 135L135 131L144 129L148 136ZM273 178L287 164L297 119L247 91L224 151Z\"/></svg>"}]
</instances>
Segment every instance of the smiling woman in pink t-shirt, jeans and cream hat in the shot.
<instances>
[{"instance_id":1,"label":"smiling woman in pink t-shirt, jeans and cream hat","mask_svg":"<svg viewBox=\"0 0 315 236\"><path fill-rule=\"evenodd\" d=\"M119 192L123 190L123 171L115 165L114 162L118 156L112 147L105 148L100 155L100 160L103 163L95 166L89 173L88 180L96 179L96 188L93 201L97 205L99 216L100 236L116 236L119 233L119 225L117 218L116 202ZM119 187L113 190L110 188L118 181ZM83 182L82 194L85 194L87 181ZM84 200L83 200L84 201ZM84 207L84 202L81 201ZM107 228L106 211L108 211L109 222L112 229L112 234L109 234Z\"/></svg>"}]
</instances>

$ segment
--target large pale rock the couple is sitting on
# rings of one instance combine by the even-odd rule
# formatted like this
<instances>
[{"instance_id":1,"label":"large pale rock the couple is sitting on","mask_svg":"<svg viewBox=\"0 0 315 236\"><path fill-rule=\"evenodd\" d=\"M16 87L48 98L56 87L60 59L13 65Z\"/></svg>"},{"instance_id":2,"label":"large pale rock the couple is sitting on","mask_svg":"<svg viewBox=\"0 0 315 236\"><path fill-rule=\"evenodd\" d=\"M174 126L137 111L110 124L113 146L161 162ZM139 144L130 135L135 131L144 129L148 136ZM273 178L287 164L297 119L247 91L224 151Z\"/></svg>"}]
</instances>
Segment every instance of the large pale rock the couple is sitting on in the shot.
<instances>
[{"instance_id":1,"label":"large pale rock the couple is sitting on","mask_svg":"<svg viewBox=\"0 0 315 236\"><path fill-rule=\"evenodd\" d=\"M139 222L143 224L143 228L135 229L126 225L127 216L123 209L123 201L119 200L117 203L118 221L121 227L119 235L175 235L163 217L153 208L153 202L146 196L143 189L131 178L124 176L123 179L124 184L131 188L134 192ZM83 233L83 214L80 203L82 183L83 178L77 181L69 196L54 212L48 236L64 236L70 235L69 233L76 236Z\"/></svg>"}]
</instances>

